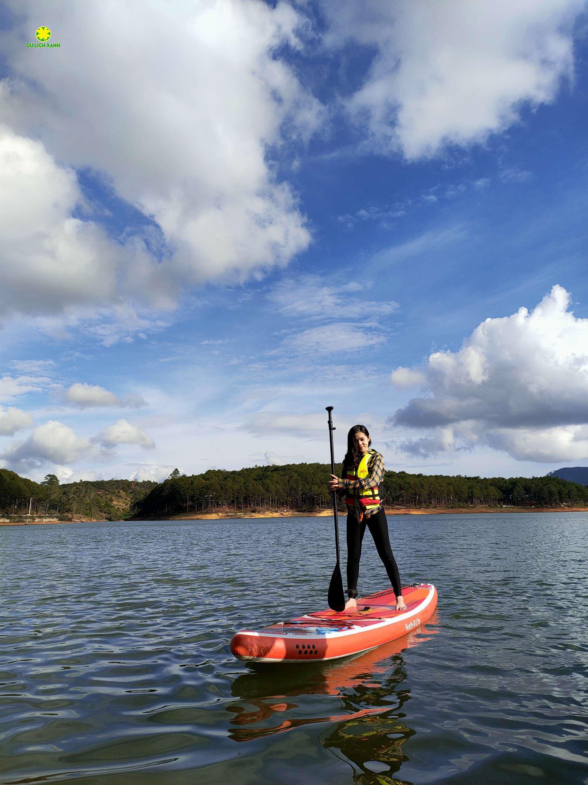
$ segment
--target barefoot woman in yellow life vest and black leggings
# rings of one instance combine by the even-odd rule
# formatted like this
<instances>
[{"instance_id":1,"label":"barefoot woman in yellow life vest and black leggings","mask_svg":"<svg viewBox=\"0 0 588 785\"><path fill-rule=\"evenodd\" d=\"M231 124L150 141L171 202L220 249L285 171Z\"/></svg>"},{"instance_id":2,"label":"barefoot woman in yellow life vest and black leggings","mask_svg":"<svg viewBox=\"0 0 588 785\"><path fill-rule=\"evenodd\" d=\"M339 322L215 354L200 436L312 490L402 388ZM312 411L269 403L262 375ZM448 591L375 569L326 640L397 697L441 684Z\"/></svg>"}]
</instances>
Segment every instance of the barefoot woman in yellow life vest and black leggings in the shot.
<instances>
[{"instance_id":1,"label":"barefoot woman in yellow life vest and black leggings","mask_svg":"<svg viewBox=\"0 0 588 785\"><path fill-rule=\"evenodd\" d=\"M402 597L400 575L394 553L390 548L388 521L383 504L379 498L378 486L384 477L384 459L379 452L372 450L372 440L365 425L354 425L347 434L347 454L343 458L342 474L339 479L331 475L328 487L332 491L346 491L347 504L347 594L349 600L345 604L346 611L354 611L358 607L355 597L358 596L359 559L361 557L361 541L367 525L378 556L383 561L388 578L396 595L397 611L405 611L406 604Z\"/></svg>"}]
</instances>

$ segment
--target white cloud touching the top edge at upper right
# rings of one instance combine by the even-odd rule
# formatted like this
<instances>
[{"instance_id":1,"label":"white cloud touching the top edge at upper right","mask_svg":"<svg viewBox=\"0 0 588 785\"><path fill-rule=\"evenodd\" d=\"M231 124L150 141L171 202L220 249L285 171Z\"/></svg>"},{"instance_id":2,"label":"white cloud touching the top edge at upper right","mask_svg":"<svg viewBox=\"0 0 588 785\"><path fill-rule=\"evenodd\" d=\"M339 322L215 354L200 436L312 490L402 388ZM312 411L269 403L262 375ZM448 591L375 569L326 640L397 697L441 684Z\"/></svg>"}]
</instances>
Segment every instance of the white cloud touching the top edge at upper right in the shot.
<instances>
[{"instance_id":1,"label":"white cloud touching the top edge at upper right","mask_svg":"<svg viewBox=\"0 0 588 785\"><path fill-rule=\"evenodd\" d=\"M521 106L554 100L572 74L572 22L582 0L325 4L328 42L376 49L347 101L382 151L408 159L485 141L517 122Z\"/></svg>"}]
</instances>

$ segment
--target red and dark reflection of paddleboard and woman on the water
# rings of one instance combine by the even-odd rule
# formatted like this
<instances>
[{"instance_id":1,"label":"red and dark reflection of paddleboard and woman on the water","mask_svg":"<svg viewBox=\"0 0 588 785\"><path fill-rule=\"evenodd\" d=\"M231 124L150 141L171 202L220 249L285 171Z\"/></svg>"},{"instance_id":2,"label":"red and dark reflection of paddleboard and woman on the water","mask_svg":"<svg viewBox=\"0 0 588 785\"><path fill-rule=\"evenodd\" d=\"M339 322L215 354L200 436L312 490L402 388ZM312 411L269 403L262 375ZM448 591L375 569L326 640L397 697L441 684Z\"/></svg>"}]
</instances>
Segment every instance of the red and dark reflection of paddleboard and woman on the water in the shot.
<instances>
[{"instance_id":1,"label":"red and dark reflection of paddleboard and woman on the water","mask_svg":"<svg viewBox=\"0 0 588 785\"><path fill-rule=\"evenodd\" d=\"M361 785L401 783L393 775L407 760L403 747L415 734L405 722L410 690L403 688L401 652L436 633L430 621L397 641L335 663L304 666L249 666L234 680L231 695L240 699L227 710L229 737L235 742L267 738L305 725L328 724L319 739L354 772ZM309 696L333 696L338 711L314 716ZM334 723L334 725L333 725Z\"/></svg>"}]
</instances>

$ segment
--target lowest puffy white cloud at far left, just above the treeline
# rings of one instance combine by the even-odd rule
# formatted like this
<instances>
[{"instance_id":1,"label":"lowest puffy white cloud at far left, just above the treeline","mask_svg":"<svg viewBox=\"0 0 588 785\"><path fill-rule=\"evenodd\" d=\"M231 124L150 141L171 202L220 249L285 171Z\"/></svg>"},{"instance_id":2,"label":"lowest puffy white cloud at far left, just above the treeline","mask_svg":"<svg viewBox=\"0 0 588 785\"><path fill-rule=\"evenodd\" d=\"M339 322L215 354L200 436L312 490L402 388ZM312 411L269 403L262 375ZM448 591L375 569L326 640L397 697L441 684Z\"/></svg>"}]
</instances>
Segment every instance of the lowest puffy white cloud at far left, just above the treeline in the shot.
<instances>
[{"instance_id":1,"label":"lowest puffy white cloud at far left, just above the treeline","mask_svg":"<svg viewBox=\"0 0 588 785\"><path fill-rule=\"evenodd\" d=\"M69 425L49 420L38 425L27 440L6 447L2 458L16 472L27 472L45 463L76 462L89 455L90 449L89 441L76 436Z\"/></svg>"}]
</instances>

